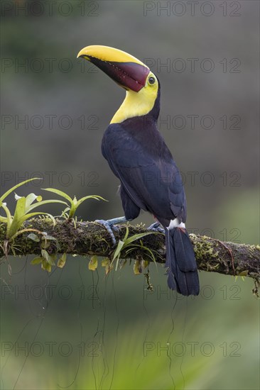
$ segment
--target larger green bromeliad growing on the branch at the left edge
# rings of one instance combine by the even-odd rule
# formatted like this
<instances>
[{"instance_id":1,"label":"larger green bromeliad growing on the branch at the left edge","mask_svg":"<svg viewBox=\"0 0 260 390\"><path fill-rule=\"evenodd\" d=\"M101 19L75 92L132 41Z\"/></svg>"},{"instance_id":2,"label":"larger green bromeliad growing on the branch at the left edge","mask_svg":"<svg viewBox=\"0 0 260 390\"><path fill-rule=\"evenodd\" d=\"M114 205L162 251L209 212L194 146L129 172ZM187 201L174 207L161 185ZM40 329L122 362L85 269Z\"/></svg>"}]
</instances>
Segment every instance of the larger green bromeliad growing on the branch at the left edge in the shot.
<instances>
[{"instance_id":1,"label":"larger green bromeliad growing on the branch at the left edge","mask_svg":"<svg viewBox=\"0 0 260 390\"><path fill-rule=\"evenodd\" d=\"M17 194L15 194L16 208L12 216L11 211L7 207L6 203L4 203L4 199L6 199L6 197L9 194L11 194L11 192L14 192L19 186L22 186L23 184L26 184L36 179L39 178L34 177L33 179L28 179L25 180L24 182L16 184L16 186L13 186L11 189L6 191L0 197L0 208L3 208L6 213L6 216L0 216L0 222L6 223L7 225L6 240L11 241L14 238L16 238L18 235L26 231L33 230L29 228L20 230L21 225L23 225L25 221L27 221L29 218L32 218L33 216L46 215L53 221L53 225L55 225L55 219L50 213L43 213L43 211L34 211L32 213L31 211L33 209L38 208L39 206L43 206L44 204L52 204L52 203L60 203L60 204L65 204L67 206L67 203L65 201L60 201L55 199L49 199L47 201L43 201L42 196L38 196L33 193L28 194L27 196L18 196ZM35 201L36 203L33 203Z\"/></svg>"}]
</instances>

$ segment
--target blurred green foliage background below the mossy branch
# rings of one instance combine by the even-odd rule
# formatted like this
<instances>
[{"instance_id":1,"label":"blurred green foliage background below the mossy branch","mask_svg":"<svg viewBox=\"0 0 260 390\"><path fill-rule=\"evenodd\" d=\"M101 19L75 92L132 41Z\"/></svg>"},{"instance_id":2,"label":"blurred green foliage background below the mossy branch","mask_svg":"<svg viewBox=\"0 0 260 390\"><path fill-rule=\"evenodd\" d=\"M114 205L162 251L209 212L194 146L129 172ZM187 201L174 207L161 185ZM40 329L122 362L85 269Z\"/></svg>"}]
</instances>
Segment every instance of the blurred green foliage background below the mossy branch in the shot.
<instances>
[{"instance_id":1,"label":"blurred green foliage background below the mossy branch","mask_svg":"<svg viewBox=\"0 0 260 390\"><path fill-rule=\"evenodd\" d=\"M2 287L3 389L17 379L18 389L257 389L251 281L200 272L200 296L176 299L161 266L150 266L151 292L132 267L104 277L87 263L70 257L43 276L26 259L11 262L11 284Z\"/></svg>"}]
</instances>

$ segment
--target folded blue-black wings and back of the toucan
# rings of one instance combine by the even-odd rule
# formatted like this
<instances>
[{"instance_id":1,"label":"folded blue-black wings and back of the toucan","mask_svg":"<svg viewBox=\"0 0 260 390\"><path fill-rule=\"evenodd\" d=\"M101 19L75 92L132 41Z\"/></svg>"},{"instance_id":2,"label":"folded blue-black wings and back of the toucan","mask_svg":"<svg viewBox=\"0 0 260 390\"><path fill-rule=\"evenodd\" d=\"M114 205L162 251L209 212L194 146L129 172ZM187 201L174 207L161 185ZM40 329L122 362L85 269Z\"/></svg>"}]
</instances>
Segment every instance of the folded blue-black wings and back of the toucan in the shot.
<instances>
[{"instance_id":1,"label":"folded blue-black wings and back of the toucan","mask_svg":"<svg viewBox=\"0 0 260 390\"><path fill-rule=\"evenodd\" d=\"M168 147L156 128L138 132L133 123L131 129L112 124L102 140L102 154L120 179L123 196L159 221L178 216L185 222L183 184Z\"/></svg>"}]
</instances>

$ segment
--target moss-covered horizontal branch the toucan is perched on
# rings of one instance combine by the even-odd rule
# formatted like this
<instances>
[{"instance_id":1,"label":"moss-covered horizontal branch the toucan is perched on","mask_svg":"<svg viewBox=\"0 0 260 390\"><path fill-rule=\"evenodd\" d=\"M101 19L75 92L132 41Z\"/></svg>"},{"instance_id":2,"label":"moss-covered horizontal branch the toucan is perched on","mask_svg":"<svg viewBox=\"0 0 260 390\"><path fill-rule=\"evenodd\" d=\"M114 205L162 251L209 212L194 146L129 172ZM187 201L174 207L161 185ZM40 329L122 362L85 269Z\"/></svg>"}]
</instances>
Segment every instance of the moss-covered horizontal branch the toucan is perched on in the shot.
<instances>
[{"instance_id":1,"label":"moss-covered horizontal branch the toucan is perched on","mask_svg":"<svg viewBox=\"0 0 260 390\"><path fill-rule=\"evenodd\" d=\"M143 226L128 225L129 237L131 235L146 233ZM53 236L50 241L48 253L67 253L75 255L97 255L112 257L115 247L107 230L99 223L75 222L73 220L56 220L50 218L33 218L23 224L22 229L38 230ZM15 240L6 243L6 224L0 225L0 255L3 256L6 248L9 255L40 255L40 243L30 238L30 232L24 231ZM118 225L115 232L117 242L124 238L126 225ZM260 277L260 247L258 245L244 245L237 243L223 243L220 240L200 235L190 235L195 250L197 267L207 272L219 272L227 275L242 275L258 279ZM140 242L140 240L139 240ZM141 239L143 246L148 247L156 258L156 262L165 262L165 243L163 234L146 235ZM122 259L129 257L124 250ZM131 252L131 258L149 260L148 252L136 247Z\"/></svg>"}]
</instances>

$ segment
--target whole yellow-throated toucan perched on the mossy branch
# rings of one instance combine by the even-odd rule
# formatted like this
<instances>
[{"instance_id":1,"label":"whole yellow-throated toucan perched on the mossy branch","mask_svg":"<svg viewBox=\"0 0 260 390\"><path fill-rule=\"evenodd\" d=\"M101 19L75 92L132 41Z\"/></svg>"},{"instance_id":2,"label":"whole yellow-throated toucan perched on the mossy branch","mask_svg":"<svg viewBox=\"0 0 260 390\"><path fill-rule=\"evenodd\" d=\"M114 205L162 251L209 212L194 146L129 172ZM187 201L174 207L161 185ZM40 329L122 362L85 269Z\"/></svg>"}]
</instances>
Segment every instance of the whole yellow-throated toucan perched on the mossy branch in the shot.
<instances>
[{"instance_id":1,"label":"whole yellow-throated toucan perched on the mossy branch","mask_svg":"<svg viewBox=\"0 0 260 390\"><path fill-rule=\"evenodd\" d=\"M140 210L151 213L156 223L150 228L162 230L166 237L168 287L184 296L198 295L197 264L185 228L183 182L157 126L158 77L136 57L108 46L87 46L77 57L92 62L126 89L102 138L102 155L120 181L124 217L99 222L114 235L114 224L134 220Z\"/></svg>"}]
</instances>

